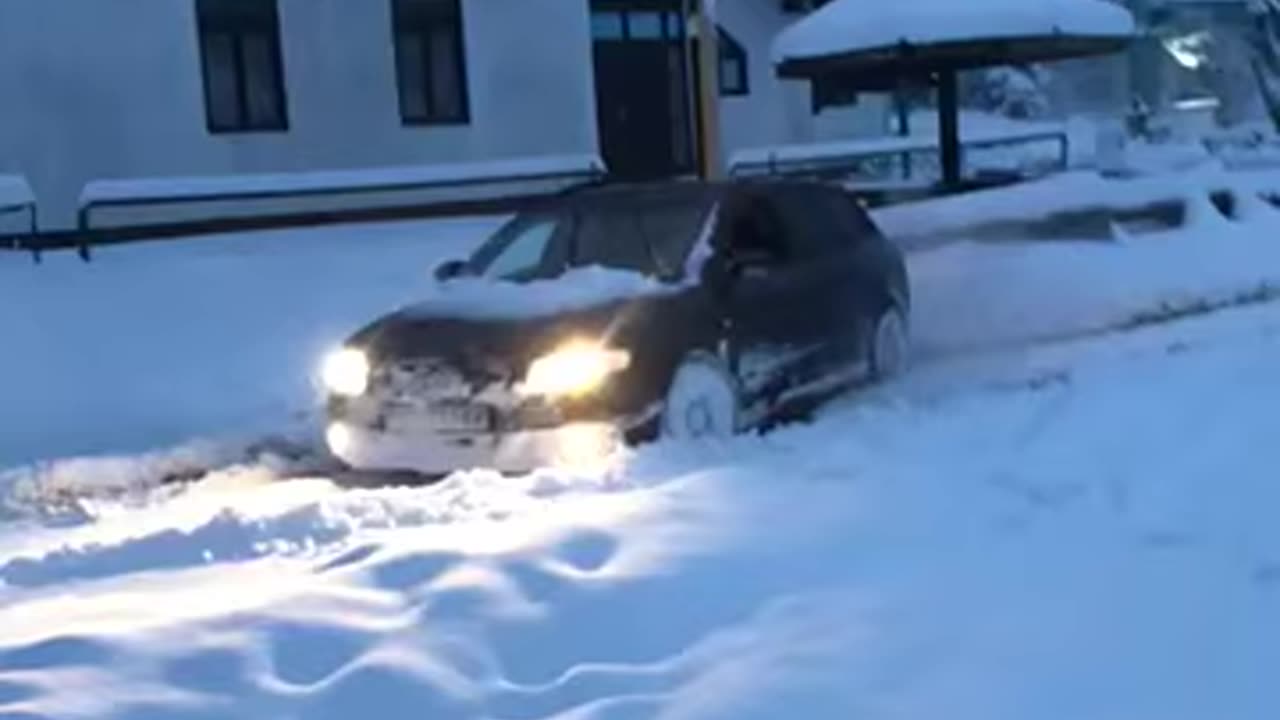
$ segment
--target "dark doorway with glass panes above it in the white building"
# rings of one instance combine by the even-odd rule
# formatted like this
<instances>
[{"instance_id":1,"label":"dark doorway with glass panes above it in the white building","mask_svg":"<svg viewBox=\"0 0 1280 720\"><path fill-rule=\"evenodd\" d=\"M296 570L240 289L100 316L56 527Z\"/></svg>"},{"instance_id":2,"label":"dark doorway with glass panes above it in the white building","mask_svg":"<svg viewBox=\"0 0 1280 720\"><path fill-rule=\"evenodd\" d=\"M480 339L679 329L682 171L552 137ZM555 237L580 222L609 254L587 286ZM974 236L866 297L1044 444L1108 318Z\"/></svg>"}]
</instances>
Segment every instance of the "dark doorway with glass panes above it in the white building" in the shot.
<instances>
[{"instance_id":1,"label":"dark doorway with glass panes above it in the white building","mask_svg":"<svg viewBox=\"0 0 1280 720\"><path fill-rule=\"evenodd\" d=\"M593 0L600 151L620 179L694 172L681 0Z\"/></svg>"}]
</instances>

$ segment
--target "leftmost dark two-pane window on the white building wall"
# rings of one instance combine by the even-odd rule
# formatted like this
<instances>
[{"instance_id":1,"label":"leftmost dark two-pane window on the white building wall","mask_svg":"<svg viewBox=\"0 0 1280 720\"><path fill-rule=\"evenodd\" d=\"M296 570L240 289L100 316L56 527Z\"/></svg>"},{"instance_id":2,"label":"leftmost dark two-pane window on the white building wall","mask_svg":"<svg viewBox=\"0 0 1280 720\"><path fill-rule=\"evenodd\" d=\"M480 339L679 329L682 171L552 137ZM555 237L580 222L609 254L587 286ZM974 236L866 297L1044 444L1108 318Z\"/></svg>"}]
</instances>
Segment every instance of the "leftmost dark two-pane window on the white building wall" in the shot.
<instances>
[{"instance_id":1,"label":"leftmost dark two-pane window on the white building wall","mask_svg":"<svg viewBox=\"0 0 1280 720\"><path fill-rule=\"evenodd\" d=\"M288 129L276 0L197 0L210 132Z\"/></svg>"}]
</instances>

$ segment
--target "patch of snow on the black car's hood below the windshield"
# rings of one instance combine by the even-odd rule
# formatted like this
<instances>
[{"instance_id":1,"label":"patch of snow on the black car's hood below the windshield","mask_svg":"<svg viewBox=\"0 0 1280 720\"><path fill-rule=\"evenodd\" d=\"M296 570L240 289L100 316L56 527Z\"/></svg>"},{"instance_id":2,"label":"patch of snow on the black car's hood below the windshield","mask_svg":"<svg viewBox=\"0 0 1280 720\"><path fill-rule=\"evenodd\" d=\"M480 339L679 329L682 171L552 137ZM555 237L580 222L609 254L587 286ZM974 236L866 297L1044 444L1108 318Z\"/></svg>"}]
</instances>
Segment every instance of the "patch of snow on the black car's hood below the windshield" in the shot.
<instances>
[{"instance_id":1,"label":"patch of snow on the black car's hood below the windshield","mask_svg":"<svg viewBox=\"0 0 1280 720\"><path fill-rule=\"evenodd\" d=\"M531 283L460 278L403 307L407 319L522 320L589 310L634 297L669 293L676 286L627 270L590 266Z\"/></svg>"}]
</instances>

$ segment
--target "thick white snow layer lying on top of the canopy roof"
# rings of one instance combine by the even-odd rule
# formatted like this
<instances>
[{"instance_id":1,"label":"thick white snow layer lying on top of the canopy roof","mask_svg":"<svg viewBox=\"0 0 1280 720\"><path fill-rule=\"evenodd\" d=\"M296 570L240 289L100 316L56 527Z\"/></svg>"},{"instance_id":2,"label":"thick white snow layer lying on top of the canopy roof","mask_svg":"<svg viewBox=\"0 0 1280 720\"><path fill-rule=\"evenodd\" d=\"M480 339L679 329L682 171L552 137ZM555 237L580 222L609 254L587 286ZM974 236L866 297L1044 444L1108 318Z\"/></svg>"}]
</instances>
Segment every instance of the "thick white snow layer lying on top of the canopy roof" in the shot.
<instances>
[{"instance_id":1,"label":"thick white snow layer lying on top of the canopy roof","mask_svg":"<svg viewBox=\"0 0 1280 720\"><path fill-rule=\"evenodd\" d=\"M783 31L773 61L974 38L1128 37L1133 15L1102 0L836 0Z\"/></svg>"}]
</instances>

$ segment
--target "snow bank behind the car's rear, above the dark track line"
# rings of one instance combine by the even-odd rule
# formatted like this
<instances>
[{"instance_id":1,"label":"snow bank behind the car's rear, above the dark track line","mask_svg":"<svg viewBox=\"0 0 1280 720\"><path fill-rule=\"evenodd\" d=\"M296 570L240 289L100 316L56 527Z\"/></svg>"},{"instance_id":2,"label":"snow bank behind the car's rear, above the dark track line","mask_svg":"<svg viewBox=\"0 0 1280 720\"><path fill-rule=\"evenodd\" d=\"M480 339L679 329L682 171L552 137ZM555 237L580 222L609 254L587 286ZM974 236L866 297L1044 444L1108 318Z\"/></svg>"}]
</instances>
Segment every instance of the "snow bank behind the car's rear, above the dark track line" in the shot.
<instances>
[{"instance_id":1,"label":"snow bank behind the car's rear, above the dark track line","mask_svg":"<svg viewBox=\"0 0 1280 720\"><path fill-rule=\"evenodd\" d=\"M955 242L910 256L918 350L954 355L1280 293L1280 210L1230 222L1204 199L1187 228L1124 242Z\"/></svg>"}]
</instances>

